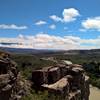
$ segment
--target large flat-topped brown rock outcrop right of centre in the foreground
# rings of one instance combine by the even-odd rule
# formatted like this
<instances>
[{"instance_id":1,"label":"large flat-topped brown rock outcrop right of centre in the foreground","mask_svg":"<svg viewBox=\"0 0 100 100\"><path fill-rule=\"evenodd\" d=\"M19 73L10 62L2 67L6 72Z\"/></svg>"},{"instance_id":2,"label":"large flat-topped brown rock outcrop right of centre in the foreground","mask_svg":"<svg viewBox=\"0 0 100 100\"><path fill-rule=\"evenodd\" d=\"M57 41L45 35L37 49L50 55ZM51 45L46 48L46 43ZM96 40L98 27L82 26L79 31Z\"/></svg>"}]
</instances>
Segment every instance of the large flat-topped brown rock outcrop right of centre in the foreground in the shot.
<instances>
[{"instance_id":1,"label":"large flat-topped brown rock outcrop right of centre in the foreground","mask_svg":"<svg viewBox=\"0 0 100 100\"><path fill-rule=\"evenodd\" d=\"M89 100L89 77L81 65L63 63L33 70L32 81L35 89L47 90L59 100Z\"/></svg>"}]
</instances>

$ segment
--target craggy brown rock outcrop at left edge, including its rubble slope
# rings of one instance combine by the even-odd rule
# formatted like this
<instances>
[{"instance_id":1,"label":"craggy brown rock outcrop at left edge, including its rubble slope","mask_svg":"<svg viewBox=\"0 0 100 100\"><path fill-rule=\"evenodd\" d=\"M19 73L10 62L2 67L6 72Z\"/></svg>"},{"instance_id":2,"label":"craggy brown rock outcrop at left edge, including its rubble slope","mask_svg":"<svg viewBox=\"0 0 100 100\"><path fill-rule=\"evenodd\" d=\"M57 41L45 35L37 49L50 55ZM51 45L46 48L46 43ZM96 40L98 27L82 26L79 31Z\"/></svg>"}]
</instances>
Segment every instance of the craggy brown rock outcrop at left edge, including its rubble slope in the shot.
<instances>
[{"instance_id":1,"label":"craggy brown rock outcrop at left edge, including its rubble slope","mask_svg":"<svg viewBox=\"0 0 100 100\"><path fill-rule=\"evenodd\" d=\"M0 52L0 100L19 100L27 91L25 83L10 55Z\"/></svg>"}]
</instances>

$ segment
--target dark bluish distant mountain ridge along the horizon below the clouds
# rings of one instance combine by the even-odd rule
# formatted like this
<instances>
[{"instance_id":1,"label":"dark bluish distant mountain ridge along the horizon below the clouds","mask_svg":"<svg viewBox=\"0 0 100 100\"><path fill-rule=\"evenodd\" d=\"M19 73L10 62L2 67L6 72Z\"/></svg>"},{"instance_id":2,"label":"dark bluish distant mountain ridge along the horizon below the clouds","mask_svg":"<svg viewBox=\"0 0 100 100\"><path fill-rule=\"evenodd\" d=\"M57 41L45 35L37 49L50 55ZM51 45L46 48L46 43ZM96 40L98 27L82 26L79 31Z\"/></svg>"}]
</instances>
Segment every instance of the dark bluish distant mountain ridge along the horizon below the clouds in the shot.
<instances>
[{"instance_id":1,"label":"dark bluish distant mountain ridge along the horizon below the clouds","mask_svg":"<svg viewBox=\"0 0 100 100\"><path fill-rule=\"evenodd\" d=\"M92 49L92 50L48 50L48 49L22 49L22 48L7 48L0 47L0 50L10 53L21 53L21 54L55 54L61 53L66 55L77 55L77 54L100 54L100 49Z\"/></svg>"}]
</instances>

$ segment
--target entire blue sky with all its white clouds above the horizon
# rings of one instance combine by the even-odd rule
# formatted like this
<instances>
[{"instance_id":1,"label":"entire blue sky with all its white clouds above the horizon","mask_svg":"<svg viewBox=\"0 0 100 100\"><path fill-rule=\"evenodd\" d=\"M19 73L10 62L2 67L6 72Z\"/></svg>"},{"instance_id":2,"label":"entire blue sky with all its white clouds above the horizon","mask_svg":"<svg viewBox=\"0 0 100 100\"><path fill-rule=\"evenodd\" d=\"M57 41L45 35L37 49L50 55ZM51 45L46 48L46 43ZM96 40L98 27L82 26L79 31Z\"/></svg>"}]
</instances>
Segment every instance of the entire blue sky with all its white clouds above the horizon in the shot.
<instances>
[{"instance_id":1,"label":"entire blue sky with all its white clouds above the horizon","mask_svg":"<svg viewBox=\"0 0 100 100\"><path fill-rule=\"evenodd\" d=\"M100 0L0 0L0 46L99 49Z\"/></svg>"}]
</instances>

